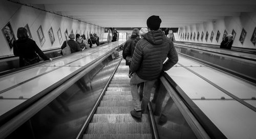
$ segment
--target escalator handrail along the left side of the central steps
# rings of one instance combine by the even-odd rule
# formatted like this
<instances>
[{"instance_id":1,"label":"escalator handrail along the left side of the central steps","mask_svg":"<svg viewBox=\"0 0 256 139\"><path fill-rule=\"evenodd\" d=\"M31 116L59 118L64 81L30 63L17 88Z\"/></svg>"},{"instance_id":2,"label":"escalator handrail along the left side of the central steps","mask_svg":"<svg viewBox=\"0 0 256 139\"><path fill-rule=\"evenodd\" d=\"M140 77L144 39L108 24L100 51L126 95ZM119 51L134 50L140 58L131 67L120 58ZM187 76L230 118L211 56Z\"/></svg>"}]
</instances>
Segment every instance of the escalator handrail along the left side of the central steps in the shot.
<instances>
[{"instance_id":1,"label":"escalator handrail along the left side of the central steps","mask_svg":"<svg viewBox=\"0 0 256 139\"><path fill-rule=\"evenodd\" d=\"M53 87L51 87L51 90L46 89L47 91L45 92L45 94L42 94L37 98L33 98L33 100L29 102L29 104L24 104L23 107L15 109L15 112L12 112L12 115L7 117L8 121L0 126L0 138L7 137L15 129L17 129L27 120L29 120L32 116L34 116L37 112L39 112L39 110L44 108L56 97L58 97L61 93L63 93L63 91L72 86L74 82L76 82L86 73L95 68L104 59L108 58L109 55L111 55L121 45L116 46L104 55L101 55L101 57L99 57L98 59L90 62L88 65L84 66L82 70L75 73L71 77L61 80L61 83L54 84Z\"/></svg>"}]
</instances>

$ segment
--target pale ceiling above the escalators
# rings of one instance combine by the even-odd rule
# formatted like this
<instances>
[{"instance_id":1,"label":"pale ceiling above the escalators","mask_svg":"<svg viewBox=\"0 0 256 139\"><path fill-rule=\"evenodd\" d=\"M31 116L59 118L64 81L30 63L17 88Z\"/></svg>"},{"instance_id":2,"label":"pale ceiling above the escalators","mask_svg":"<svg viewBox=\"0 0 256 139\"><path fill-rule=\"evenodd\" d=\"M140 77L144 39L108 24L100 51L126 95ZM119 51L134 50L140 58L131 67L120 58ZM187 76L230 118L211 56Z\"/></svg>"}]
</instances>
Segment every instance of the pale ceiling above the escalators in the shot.
<instances>
[{"instance_id":1,"label":"pale ceiling above the escalators","mask_svg":"<svg viewBox=\"0 0 256 139\"><path fill-rule=\"evenodd\" d=\"M160 27L181 27L256 12L256 0L19 0L44 5L58 12L101 27L146 27L146 19L159 15Z\"/></svg>"}]
</instances>

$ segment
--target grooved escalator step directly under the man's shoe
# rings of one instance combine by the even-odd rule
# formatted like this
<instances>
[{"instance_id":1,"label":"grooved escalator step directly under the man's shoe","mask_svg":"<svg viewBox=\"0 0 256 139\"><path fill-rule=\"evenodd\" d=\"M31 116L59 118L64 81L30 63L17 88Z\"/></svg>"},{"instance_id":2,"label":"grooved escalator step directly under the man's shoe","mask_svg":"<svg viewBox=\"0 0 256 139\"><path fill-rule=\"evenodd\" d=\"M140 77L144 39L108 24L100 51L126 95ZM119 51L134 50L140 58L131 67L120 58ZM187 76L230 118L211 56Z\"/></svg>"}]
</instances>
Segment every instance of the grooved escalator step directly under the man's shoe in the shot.
<instances>
[{"instance_id":1,"label":"grooved escalator step directly under the man's shoe","mask_svg":"<svg viewBox=\"0 0 256 139\"><path fill-rule=\"evenodd\" d=\"M141 119L133 118L130 114L95 114L91 123L148 123L147 114Z\"/></svg>"}]
</instances>

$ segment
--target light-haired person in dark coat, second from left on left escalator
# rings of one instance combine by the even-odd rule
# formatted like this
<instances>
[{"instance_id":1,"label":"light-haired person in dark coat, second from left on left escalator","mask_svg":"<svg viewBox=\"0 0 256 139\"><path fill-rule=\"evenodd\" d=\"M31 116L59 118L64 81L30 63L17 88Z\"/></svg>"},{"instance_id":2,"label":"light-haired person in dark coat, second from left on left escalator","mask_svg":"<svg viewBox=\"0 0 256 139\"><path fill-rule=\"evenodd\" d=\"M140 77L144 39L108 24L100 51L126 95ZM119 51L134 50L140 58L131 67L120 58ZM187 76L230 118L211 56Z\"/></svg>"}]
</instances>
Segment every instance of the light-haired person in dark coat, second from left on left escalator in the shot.
<instances>
[{"instance_id":1,"label":"light-haired person in dark coat, second from left on left escalator","mask_svg":"<svg viewBox=\"0 0 256 139\"><path fill-rule=\"evenodd\" d=\"M67 43L69 44L71 53L77 52L77 51L82 51L83 48L75 41L75 34L71 33L69 35L68 41L64 41L63 44L61 45L61 49L64 49L67 46Z\"/></svg>"}]
</instances>

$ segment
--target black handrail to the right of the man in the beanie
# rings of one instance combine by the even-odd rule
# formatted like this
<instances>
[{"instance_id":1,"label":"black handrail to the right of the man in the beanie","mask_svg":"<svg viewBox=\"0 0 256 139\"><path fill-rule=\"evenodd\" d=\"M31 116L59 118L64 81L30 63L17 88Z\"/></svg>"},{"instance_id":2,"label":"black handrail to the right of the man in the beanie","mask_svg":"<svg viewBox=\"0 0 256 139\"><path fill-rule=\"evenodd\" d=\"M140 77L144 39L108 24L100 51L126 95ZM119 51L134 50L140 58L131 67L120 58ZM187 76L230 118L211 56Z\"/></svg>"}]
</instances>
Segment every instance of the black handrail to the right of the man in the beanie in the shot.
<instances>
[{"instance_id":1,"label":"black handrail to the right of the man in the beanie","mask_svg":"<svg viewBox=\"0 0 256 139\"><path fill-rule=\"evenodd\" d=\"M163 73L163 77L178 94L181 101L186 105L210 138L227 138L166 72Z\"/></svg>"}]
</instances>

